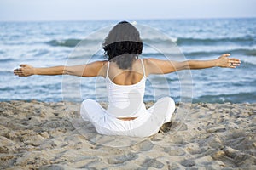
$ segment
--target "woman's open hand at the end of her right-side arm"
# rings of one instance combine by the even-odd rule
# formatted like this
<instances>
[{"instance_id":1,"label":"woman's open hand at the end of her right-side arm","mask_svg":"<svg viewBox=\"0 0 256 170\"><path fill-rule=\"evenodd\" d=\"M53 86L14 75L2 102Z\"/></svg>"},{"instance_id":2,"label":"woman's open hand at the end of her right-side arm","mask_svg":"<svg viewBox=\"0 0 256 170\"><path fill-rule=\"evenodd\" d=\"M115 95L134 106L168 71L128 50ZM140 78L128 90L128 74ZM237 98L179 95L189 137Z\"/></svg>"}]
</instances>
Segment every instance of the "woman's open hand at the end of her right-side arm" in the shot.
<instances>
[{"instance_id":1,"label":"woman's open hand at the end of her right-side arm","mask_svg":"<svg viewBox=\"0 0 256 170\"><path fill-rule=\"evenodd\" d=\"M224 68L236 68L241 64L240 59L229 58L230 54L223 54L217 59L217 66Z\"/></svg>"}]
</instances>

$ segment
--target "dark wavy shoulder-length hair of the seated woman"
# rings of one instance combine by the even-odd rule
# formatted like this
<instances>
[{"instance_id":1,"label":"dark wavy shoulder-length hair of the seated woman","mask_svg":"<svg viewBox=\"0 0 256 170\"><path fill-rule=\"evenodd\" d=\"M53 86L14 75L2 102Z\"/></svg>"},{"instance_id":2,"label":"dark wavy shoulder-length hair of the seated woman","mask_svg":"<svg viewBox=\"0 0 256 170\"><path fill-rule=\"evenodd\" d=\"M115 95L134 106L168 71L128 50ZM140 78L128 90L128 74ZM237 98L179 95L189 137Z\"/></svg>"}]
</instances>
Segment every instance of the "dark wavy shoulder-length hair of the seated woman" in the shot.
<instances>
[{"instance_id":1,"label":"dark wavy shoulder-length hair of the seated woman","mask_svg":"<svg viewBox=\"0 0 256 170\"><path fill-rule=\"evenodd\" d=\"M109 31L102 48L108 61L116 62L119 69L129 69L132 61L142 54L143 41L136 27L122 21Z\"/></svg>"}]
</instances>

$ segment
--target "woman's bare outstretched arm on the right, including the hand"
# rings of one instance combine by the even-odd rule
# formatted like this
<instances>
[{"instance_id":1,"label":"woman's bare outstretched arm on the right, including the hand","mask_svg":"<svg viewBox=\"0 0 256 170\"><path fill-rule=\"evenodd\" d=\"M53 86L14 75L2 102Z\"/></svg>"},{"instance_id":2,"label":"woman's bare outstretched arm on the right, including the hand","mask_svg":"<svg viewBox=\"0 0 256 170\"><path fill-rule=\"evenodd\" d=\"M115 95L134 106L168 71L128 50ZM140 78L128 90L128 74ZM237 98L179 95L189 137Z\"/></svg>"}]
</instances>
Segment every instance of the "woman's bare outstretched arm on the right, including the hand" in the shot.
<instances>
[{"instance_id":1,"label":"woman's bare outstretched arm on the right, including the hand","mask_svg":"<svg viewBox=\"0 0 256 170\"><path fill-rule=\"evenodd\" d=\"M236 68L240 65L240 60L229 58L230 54L223 54L218 59L212 60L187 60L182 62L147 59L147 74L166 74L174 71L188 70L188 69L206 69L212 67Z\"/></svg>"}]
</instances>

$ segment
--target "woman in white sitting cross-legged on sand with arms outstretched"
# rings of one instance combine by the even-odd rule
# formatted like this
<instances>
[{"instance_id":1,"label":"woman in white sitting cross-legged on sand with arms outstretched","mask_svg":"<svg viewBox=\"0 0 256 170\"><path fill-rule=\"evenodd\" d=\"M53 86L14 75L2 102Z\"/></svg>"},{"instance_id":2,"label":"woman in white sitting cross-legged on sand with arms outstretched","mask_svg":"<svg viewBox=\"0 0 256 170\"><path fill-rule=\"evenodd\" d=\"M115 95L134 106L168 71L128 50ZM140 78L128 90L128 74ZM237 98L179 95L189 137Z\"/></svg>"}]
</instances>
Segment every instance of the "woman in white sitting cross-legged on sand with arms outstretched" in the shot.
<instances>
[{"instance_id":1,"label":"woman in white sitting cross-legged on sand with arms outstretched","mask_svg":"<svg viewBox=\"0 0 256 170\"><path fill-rule=\"evenodd\" d=\"M20 65L15 75L73 75L79 77L105 77L108 88L108 109L95 100L86 99L80 115L90 121L98 133L147 137L157 133L161 125L171 121L175 103L170 97L159 99L146 110L143 104L146 78L150 74L166 74L185 69L206 69L215 66L236 68L239 59L223 54L218 59L188 60L183 62L161 59L138 59L143 42L137 29L130 23L119 22L108 33L102 44L107 60L86 65L34 68Z\"/></svg>"}]
</instances>

